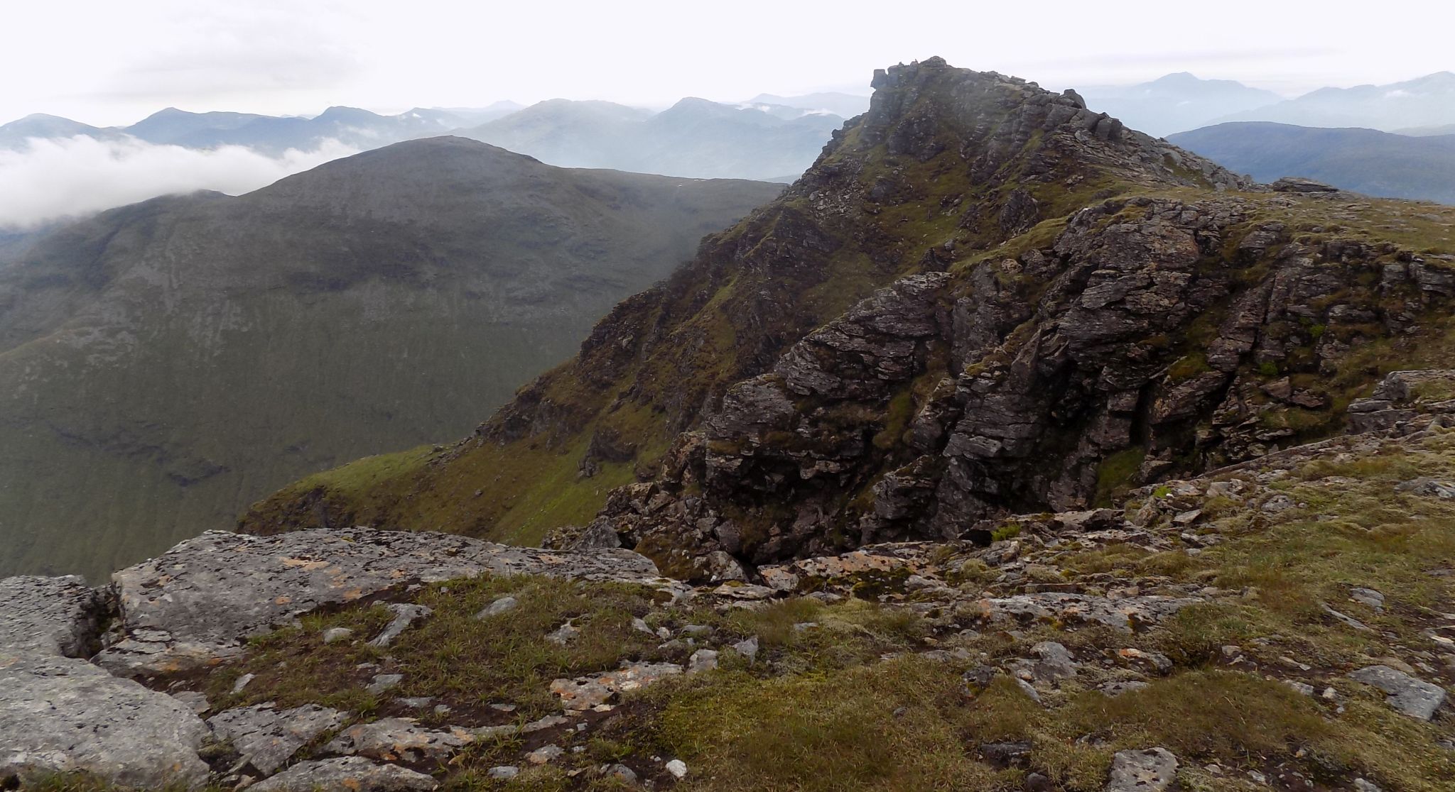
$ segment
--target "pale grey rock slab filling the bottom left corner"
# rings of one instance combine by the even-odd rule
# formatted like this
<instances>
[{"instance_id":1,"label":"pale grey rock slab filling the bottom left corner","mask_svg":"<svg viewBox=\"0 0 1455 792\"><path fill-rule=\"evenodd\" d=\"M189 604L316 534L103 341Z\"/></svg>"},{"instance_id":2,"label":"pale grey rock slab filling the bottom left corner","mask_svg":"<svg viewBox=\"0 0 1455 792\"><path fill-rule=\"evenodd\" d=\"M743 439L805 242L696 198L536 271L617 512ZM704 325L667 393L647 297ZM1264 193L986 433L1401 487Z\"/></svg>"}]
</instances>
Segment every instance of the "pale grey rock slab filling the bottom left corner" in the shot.
<instances>
[{"instance_id":1,"label":"pale grey rock slab filling the bottom left corner","mask_svg":"<svg viewBox=\"0 0 1455 792\"><path fill-rule=\"evenodd\" d=\"M87 772L122 786L207 780L207 724L166 693L67 657L0 651L0 779Z\"/></svg>"}]
</instances>

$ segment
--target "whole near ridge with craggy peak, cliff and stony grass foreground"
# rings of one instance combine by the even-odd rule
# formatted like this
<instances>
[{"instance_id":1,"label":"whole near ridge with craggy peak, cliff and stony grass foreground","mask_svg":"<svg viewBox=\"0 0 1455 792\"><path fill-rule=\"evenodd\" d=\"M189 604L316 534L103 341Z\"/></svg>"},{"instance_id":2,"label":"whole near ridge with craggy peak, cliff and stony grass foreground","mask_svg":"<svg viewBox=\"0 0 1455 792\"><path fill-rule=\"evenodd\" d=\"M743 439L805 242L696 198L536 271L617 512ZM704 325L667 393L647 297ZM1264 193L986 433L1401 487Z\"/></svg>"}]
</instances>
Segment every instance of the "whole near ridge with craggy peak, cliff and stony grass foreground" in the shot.
<instances>
[{"instance_id":1,"label":"whole near ridge with craggy peak, cliff and stony grass foreground","mask_svg":"<svg viewBox=\"0 0 1455 792\"><path fill-rule=\"evenodd\" d=\"M874 89L470 437L0 584L0 779L1455 788L1455 214Z\"/></svg>"}]
</instances>

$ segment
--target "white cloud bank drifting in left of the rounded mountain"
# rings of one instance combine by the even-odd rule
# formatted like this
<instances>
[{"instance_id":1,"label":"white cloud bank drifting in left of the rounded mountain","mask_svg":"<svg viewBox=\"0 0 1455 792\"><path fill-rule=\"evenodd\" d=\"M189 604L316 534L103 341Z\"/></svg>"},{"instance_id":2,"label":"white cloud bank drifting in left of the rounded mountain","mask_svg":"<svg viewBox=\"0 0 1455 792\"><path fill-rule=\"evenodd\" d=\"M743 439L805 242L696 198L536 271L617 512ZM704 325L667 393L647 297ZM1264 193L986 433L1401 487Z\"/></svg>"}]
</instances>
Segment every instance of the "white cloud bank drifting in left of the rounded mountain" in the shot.
<instances>
[{"instance_id":1,"label":"white cloud bank drifting in left of the rounded mountain","mask_svg":"<svg viewBox=\"0 0 1455 792\"><path fill-rule=\"evenodd\" d=\"M356 153L333 140L316 151L290 148L281 157L237 145L194 150L135 138L31 140L23 150L0 151L0 228L84 217L159 195L240 195Z\"/></svg>"}]
</instances>

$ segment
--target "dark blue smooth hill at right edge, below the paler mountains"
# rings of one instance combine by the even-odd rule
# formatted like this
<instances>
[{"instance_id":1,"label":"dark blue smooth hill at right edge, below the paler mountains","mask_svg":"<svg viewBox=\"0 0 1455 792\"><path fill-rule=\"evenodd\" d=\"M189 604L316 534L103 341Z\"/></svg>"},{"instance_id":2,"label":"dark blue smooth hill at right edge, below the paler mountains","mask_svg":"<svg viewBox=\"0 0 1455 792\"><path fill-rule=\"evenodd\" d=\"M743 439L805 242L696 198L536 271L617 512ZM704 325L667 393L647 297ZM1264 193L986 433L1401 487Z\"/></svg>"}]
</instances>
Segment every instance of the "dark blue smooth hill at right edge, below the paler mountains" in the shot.
<instances>
[{"instance_id":1,"label":"dark blue smooth hill at right edge, below the paler mountains","mask_svg":"<svg viewBox=\"0 0 1455 792\"><path fill-rule=\"evenodd\" d=\"M1455 203L1455 135L1231 122L1167 140L1260 182L1305 176L1368 195Z\"/></svg>"}]
</instances>

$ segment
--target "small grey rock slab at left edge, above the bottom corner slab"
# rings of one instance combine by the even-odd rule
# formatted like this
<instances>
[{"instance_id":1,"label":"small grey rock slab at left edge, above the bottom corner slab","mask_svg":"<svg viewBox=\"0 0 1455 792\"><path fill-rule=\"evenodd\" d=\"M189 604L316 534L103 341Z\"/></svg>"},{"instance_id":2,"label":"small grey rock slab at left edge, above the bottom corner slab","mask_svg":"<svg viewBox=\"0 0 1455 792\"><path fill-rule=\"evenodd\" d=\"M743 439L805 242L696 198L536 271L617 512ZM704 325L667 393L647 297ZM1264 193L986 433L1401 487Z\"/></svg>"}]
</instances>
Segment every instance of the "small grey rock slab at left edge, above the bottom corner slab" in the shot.
<instances>
[{"instance_id":1,"label":"small grey rock slab at left edge, above the bottom corner slab","mask_svg":"<svg viewBox=\"0 0 1455 792\"><path fill-rule=\"evenodd\" d=\"M103 591L76 575L0 580L0 651L84 657L106 613Z\"/></svg>"}]
</instances>

